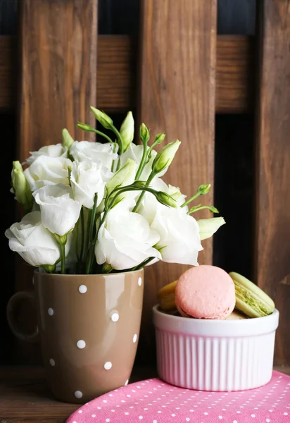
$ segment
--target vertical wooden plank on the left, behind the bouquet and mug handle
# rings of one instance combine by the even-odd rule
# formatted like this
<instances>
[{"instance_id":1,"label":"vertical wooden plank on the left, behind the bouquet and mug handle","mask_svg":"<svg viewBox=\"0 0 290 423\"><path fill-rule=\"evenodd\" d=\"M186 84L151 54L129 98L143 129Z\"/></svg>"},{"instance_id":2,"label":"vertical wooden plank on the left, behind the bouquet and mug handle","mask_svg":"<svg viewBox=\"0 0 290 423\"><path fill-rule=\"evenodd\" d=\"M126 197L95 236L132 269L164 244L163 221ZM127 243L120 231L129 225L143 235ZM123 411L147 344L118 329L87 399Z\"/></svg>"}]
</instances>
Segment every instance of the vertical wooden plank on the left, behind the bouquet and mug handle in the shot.
<instances>
[{"instance_id":1,"label":"vertical wooden plank on the left, behind the bouquet and mug handle","mask_svg":"<svg viewBox=\"0 0 290 423\"><path fill-rule=\"evenodd\" d=\"M63 128L83 139L77 121L95 124L89 105L96 104L97 7L98 0L20 2L20 161L30 151L61 142ZM32 288L29 266L18 264L15 288ZM31 345L19 343L15 351L20 362L38 357Z\"/></svg>"}]
</instances>

